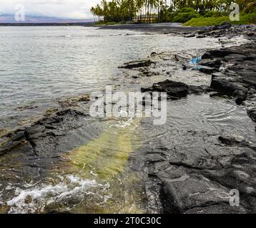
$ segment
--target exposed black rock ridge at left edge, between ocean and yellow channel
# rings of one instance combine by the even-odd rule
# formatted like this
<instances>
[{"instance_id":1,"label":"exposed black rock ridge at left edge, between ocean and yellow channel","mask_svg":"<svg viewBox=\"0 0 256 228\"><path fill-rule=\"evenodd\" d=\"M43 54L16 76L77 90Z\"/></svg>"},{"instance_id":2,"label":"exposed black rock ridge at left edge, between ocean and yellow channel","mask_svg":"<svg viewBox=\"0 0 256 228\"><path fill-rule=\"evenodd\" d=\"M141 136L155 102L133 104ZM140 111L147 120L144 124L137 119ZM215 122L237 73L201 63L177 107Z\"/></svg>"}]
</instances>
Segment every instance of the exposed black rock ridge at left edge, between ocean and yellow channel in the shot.
<instances>
[{"instance_id":1,"label":"exposed black rock ridge at left edge, between ocean and yellow channel","mask_svg":"<svg viewBox=\"0 0 256 228\"><path fill-rule=\"evenodd\" d=\"M68 130L79 126L78 118L85 114L79 110L63 109L36 121L31 126L6 135L6 141L0 145L0 155L27 141L36 155L51 154L55 151L56 140Z\"/></svg>"}]
</instances>

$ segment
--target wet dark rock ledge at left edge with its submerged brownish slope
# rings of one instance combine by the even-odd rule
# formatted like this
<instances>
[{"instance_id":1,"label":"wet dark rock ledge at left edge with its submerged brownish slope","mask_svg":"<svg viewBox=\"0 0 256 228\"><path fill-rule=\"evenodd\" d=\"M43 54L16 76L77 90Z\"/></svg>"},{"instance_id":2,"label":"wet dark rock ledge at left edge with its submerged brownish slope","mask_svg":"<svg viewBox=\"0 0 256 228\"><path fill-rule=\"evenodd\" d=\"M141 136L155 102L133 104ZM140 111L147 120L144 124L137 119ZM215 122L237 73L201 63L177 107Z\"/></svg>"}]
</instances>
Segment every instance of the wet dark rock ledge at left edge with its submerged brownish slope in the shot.
<instances>
[{"instance_id":1,"label":"wet dark rock ledge at left edge with its submerged brownish slope","mask_svg":"<svg viewBox=\"0 0 256 228\"><path fill-rule=\"evenodd\" d=\"M60 152L63 151L57 149L59 138L79 128L79 120L84 117L80 110L61 109L4 135L0 145L2 185L6 184L5 180L21 185L46 177L49 170L61 162Z\"/></svg>"}]
</instances>

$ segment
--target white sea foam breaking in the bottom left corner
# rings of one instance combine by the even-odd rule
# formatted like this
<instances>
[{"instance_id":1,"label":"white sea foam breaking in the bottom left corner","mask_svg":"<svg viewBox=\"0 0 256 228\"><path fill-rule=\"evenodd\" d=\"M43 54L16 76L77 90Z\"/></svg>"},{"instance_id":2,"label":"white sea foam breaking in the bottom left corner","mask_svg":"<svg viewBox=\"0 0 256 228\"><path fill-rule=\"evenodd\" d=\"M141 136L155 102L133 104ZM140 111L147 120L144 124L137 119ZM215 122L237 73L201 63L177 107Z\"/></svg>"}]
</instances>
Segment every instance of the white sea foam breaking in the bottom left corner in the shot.
<instances>
[{"instance_id":1,"label":"white sea foam breaking in the bottom left corner","mask_svg":"<svg viewBox=\"0 0 256 228\"><path fill-rule=\"evenodd\" d=\"M56 185L37 185L26 190L16 189L16 197L6 202L10 206L9 213L44 212L46 206L61 204L65 210L72 209L86 197L97 197L101 190L105 192L109 185L102 185L95 180L84 180L74 175L65 176ZM109 197L104 196L104 200ZM51 208L51 207L50 207Z\"/></svg>"}]
</instances>

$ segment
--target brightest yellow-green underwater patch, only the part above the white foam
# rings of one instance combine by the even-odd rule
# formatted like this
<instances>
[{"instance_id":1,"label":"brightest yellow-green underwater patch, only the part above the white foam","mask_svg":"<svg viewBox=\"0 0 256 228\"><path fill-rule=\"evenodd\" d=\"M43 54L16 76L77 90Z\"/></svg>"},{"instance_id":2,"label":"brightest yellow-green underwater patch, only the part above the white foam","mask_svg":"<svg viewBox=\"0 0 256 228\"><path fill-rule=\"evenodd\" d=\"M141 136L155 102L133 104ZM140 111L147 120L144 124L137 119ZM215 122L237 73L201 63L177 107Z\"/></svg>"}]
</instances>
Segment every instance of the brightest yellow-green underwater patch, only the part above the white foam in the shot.
<instances>
[{"instance_id":1,"label":"brightest yellow-green underwater patch, only the part above the white foam","mask_svg":"<svg viewBox=\"0 0 256 228\"><path fill-rule=\"evenodd\" d=\"M139 147L138 119L125 126L112 125L99 136L72 150L72 165L84 172L94 172L102 180L109 180L124 171L129 154Z\"/></svg>"}]
</instances>

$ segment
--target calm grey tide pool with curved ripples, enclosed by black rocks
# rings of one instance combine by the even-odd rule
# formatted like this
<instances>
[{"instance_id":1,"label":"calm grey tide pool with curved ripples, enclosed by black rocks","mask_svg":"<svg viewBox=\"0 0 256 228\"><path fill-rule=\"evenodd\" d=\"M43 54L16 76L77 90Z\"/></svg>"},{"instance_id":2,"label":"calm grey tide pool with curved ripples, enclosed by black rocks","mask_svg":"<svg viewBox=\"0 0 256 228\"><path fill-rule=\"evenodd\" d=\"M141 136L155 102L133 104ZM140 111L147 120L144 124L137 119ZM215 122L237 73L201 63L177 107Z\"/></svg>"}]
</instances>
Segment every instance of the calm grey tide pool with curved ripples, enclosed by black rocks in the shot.
<instances>
[{"instance_id":1,"label":"calm grey tide pool with curved ripples, enclosed by black rocks","mask_svg":"<svg viewBox=\"0 0 256 228\"><path fill-rule=\"evenodd\" d=\"M152 120L143 120L146 142L154 145L156 140L167 147L192 147L193 137L196 135L195 138L232 135L256 142L253 127L255 123L247 116L245 108L230 100L210 98L209 94L189 95L187 99L169 103L167 113L167 123L153 126L154 130ZM204 147L204 144L199 143L200 147ZM207 143L205 146L207 147Z\"/></svg>"}]
</instances>

